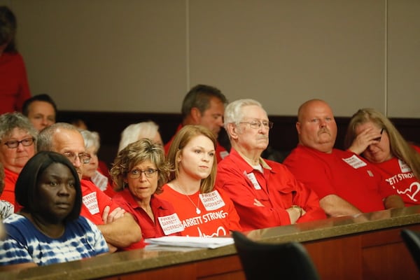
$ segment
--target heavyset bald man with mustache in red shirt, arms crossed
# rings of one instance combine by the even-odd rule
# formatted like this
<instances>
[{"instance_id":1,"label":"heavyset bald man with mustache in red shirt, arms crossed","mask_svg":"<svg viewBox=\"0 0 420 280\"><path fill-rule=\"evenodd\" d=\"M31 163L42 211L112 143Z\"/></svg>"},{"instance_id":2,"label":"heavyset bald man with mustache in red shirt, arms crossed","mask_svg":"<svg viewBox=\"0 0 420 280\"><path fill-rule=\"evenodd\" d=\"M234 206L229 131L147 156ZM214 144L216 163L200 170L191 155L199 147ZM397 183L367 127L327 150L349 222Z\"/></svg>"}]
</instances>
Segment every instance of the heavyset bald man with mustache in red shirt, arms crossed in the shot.
<instances>
[{"instance_id":1,"label":"heavyset bald man with mustache in red shirt, arms crossed","mask_svg":"<svg viewBox=\"0 0 420 280\"><path fill-rule=\"evenodd\" d=\"M296 130L299 144L283 163L297 180L316 192L328 216L404 207L369 162L333 148L337 124L326 102L304 102L297 112Z\"/></svg>"}]
</instances>

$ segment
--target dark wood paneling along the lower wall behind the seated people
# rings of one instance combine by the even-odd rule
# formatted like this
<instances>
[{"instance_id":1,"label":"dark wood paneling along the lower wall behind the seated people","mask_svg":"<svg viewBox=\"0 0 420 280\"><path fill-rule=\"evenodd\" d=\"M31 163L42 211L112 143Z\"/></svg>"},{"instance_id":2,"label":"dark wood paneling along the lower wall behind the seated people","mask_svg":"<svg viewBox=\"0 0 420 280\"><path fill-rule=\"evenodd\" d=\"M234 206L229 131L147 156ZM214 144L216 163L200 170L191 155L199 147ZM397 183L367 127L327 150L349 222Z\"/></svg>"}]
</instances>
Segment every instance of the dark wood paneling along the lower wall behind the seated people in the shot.
<instances>
[{"instance_id":1,"label":"dark wood paneling along the lower wall behind the seated people","mask_svg":"<svg viewBox=\"0 0 420 280\"><path fill-rule=\"evenodd\" d=\"M181 123L181 114L178 113L125 113L125 112L90 112L90 111L60 111L58 121L70 122L75 118L85 120L90 130L96 131L101 136L99 159L108 165L113 162L120 142L120 134L127 125L153 120L160 127L160 134L166 143L171 139ZM269 116L274 122L270 130L269 146L283 154L288 153L297 145L297 132L295 129L296 117L294 116ZM401 134L416 144L420 144L420 119L418 118L391 118ZM342 148L346 127L349 118L335 118L338 127L335 146ZM223 146L229 146L224 130L221 130L219 140Z\"/></svg>"}]
</instances>

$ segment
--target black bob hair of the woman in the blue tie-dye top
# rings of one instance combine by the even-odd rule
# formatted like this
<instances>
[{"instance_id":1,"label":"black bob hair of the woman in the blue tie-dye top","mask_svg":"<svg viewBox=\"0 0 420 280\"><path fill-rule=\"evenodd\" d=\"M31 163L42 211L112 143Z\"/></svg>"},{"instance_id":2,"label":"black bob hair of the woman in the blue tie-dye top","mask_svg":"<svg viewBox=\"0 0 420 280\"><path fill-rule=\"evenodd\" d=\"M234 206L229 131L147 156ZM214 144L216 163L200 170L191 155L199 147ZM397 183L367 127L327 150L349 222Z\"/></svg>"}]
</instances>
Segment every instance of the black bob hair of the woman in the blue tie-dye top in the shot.
<instances>
[{"instance_id":1,"label":"black bob hair of the woman in the blue tie-dye top","mask_svg":"<svg viewBox=\"0 0 420 280\"><path fill-rule=\"evenodd\" d=\"M16 201L22 205L25 211L34 211L34 205L36 203L42 203L35 201L36 189L38 186L38 180L50 165L53 163L60 163L70 169L71 174L74 177L74 188L76 189L76 199L74 201L74 207L71 210L69 216L64 221L73 221L80 215L80 209L82 208L82 190L80 188L80 181L76 169L73 164L64 155L55 152L43 151L36 153L30 158L27 164L23 167L22 171L18 176L18 181L15 185L15 197Z\"/></svg>"}]
</instances>

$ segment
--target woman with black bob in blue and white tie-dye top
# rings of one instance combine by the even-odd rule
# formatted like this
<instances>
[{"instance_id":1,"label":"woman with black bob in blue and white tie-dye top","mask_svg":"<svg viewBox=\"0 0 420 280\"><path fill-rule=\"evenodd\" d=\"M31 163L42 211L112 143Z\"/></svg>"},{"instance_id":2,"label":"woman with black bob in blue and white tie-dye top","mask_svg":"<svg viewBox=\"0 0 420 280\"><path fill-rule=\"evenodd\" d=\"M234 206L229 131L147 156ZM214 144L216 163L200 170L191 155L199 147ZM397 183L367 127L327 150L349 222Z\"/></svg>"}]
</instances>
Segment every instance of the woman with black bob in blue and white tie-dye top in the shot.
<instances>
[{"instance_id":1,"label":"woman with black bob in blue and white tie-dye top","mask_svg":"<svg viewBox=\"0 0 420 280\"><path fill-rule=\"evenodd\" d=\"M3 221L7 235L0 241L0 271L109 251L96 225L79 216L80 181L64 155L36 153L20 172L15 195L23 209Z\"/></svg>"}]
</instances>

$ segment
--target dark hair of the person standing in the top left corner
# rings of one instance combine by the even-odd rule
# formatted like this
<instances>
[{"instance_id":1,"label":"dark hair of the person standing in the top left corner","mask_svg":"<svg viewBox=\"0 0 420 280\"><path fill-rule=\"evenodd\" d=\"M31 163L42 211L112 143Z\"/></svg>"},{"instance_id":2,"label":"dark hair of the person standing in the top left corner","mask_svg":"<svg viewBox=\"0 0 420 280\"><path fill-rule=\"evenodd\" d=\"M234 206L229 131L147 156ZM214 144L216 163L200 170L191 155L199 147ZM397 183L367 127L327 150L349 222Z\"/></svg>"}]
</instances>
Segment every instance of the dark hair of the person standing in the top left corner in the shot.
<instances>
[{"instance_id":1,"label":"dark hair of the person standing in the top left corner","mask_svg":"<svg viewBox=\"0 0 420 280\"><path fill-rule=\"evenodd\" d=\"M0 6L0 45L7 43L4 52L17 52L16 29L18 22L12 10L7 6Z\"/></svg>"}]
</instances>

